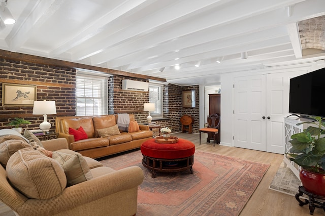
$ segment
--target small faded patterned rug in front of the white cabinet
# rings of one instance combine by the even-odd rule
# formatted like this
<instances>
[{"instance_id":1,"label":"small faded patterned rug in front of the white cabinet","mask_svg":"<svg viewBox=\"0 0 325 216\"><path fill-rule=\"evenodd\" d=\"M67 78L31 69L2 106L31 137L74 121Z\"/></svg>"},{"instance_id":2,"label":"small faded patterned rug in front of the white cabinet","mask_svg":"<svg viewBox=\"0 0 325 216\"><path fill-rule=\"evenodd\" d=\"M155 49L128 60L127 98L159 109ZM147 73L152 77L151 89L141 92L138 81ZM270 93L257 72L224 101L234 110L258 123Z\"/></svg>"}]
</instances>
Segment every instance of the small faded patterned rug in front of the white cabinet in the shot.
<instances>
[{"instance_id":1,"label":"small faded patterned rug in front of the white cabinet","mask_svg":"<svg viewBox=\"0 0 325 216\"><path fill-rule=\"evenodd\" d=\"M300 180L296 177L289 167L282 162L278 171L276 172L270 189L279 191L281 193L295 196L298 193L298 187L301 185Z\"/></svg>"}]
</instances>

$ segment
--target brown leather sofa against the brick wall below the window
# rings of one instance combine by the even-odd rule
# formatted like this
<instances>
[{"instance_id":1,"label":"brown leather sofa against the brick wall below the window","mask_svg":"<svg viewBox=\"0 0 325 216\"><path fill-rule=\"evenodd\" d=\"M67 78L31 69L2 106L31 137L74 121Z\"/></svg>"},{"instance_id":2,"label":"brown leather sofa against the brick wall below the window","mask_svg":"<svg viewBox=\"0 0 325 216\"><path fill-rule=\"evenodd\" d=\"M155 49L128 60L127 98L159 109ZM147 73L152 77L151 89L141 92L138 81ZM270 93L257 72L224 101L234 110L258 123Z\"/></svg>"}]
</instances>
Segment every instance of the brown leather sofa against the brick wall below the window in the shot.
<instances>
[{"instance_id":1,"label":"brown leather sofa against the brick wall below the window","mask_svg":"<svg viewBox=\"0 0 325 216\"><path fill-rule=\"evenodd\" d=\"M152 131L148 125L139 125L140 131L121 132L120 135L99 137L97 130L117 124L117 115L101 116L59 116L55 118L55 132L58 138L66 138L69 149L81 153L83 156L99 158L119 152L140 148L141 144L152 138ZM134 121L134 115L129 114ZM75 141L69 134L69 127L77 129L80 126L86 132L88 139Z\"/></svg>"}]
</instances>

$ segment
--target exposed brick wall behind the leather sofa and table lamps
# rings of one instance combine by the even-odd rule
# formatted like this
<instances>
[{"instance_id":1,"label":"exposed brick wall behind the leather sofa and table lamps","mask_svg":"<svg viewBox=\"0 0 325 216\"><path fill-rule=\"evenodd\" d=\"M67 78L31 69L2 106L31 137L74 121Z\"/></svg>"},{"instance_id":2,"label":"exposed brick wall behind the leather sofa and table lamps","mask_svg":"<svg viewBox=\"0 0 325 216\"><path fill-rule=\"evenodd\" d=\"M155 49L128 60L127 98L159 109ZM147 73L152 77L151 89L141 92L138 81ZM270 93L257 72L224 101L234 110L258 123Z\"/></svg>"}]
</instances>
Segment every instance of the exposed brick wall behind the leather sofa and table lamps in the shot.
<instances>
[{"instance_id":1,"label":"exposed brick wall behind the leather sofa and table lamps","mask_svg":"<svg viewBox=\"0 0 325 216\"><path fill-rule=\"evenodd\" d=\"M114 75L108 80L108 110L113 113L133 113L139 122L144 122L148 115L143 111L143 104L148 103L148 92L122 90L123 79L147 81L140 78ZM0 58L0 97L2 83L31 84L37 86L37 100L55 100L56 115L49 115L47 120L55 128L55 116L73 116L76 114L76 70L50 65L41 65L24 61ZM182 91L196 90L196 108L182 107ZM157 121L162 127L169 126L173 132L181 131L180 117L190 114L194 118L193 132L199 131L199 86L179 87L168 84L163 88L164 118ZM38 129L43 116L32 115L32 106L2 106L0 103L0 129L11 128L7 124L14 117L23 117L32 123L23 128Z\"/></svg>"}]
</instances>

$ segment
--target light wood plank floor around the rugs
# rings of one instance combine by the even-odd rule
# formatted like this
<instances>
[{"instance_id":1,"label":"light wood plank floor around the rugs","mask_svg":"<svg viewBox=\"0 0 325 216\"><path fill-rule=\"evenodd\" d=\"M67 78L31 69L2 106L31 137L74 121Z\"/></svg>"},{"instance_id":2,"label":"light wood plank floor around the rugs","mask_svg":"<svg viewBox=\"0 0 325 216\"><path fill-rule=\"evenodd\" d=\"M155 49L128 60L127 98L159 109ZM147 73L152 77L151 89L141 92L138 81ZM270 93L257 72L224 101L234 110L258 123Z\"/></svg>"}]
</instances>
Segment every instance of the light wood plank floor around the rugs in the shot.
<instances>
[{"instance_id":1,"label":"light wood plank floor around the rugs","mask_svg":"<svg viewBox=\"0 0 325 216\"><path fill-rule=\"evenodd\" d=\"M197 151L228 155L246 160L270 164L270 168L247 202L240 216L310 215L308 205L304 205L302 207L299 206L298 201L294 196L269 189L273 177L275 176L275 173L282 162L283 155L220 145L216 145L213 148L212 142L206 142L206 134L202 134L201 145L199 145L199 134L177 133L172 134L172 136L191 141L196 145ZM3 203L0 203L0 215L9 216L13 214L8 214L8 207L4 206ZM316 208L314 215L325 215L325 211L323 209Z\"/></svg>"}]
</instances>

